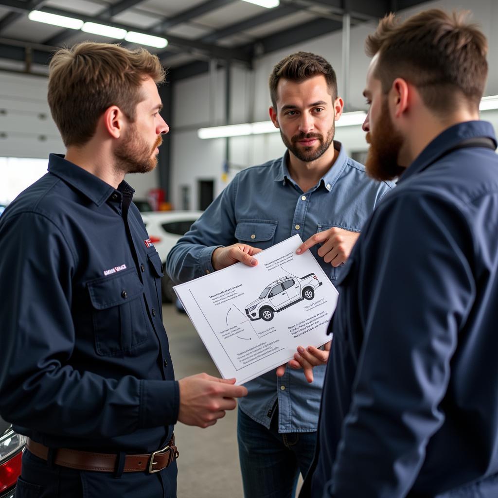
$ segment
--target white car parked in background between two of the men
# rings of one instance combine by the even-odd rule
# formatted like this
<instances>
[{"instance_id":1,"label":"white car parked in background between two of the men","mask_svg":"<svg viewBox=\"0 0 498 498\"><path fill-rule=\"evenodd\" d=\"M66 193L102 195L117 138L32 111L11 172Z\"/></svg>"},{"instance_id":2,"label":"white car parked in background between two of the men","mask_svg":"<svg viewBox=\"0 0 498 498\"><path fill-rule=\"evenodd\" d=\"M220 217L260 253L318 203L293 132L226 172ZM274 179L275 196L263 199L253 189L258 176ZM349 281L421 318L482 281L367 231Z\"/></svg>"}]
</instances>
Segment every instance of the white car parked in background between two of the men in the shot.
<instances>
[{"instance_id":1,"label":"white car parked in background between two of the men","mask_svg":"<svg viewBox=\"0 0 498 498\"><path fill-rule=\"evenodd\" d=\"M140 214L150 242L159 252L162 264L165 266L168 252L178 239L190 230L192 223L202 215L202 211L153 211ZM173 282L166 272L162 278L162 299L165 302L176 301Z\"/></svg>"}]
</instances>

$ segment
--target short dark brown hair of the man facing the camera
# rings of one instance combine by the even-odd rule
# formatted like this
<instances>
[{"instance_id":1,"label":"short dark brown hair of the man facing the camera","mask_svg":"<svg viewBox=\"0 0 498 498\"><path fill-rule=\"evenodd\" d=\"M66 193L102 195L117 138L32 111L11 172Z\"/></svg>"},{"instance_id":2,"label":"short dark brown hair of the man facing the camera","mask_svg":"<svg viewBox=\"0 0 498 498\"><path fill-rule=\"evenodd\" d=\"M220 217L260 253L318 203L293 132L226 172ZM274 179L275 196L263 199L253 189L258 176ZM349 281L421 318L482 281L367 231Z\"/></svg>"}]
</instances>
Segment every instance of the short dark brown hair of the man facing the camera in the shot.
<instances>
[{"instance_id":1,"label":"short dark brown hair of the man facing the camera","mask_svg":"<svg viewBox=\"0 0 498 498\"><path fill-rule=\"evenodd\" d=\"M337 99L336 73L323 57L311 52L296 52L282 59L270 75L270 97L273 107L276 107L277 86L280 79L301 83L320 75L325 76L332 101L335 101Z\"/></svg>"}]
</instances>

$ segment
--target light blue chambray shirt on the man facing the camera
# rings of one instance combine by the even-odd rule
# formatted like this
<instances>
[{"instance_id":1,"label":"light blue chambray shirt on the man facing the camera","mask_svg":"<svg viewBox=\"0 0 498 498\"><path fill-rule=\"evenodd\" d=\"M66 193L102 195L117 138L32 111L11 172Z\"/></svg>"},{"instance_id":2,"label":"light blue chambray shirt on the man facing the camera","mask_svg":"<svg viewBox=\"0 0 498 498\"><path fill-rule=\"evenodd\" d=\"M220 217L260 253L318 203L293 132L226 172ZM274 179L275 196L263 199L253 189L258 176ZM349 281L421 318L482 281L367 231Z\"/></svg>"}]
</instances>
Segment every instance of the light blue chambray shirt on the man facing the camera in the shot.
<instances>
[{"instance_id":1,"label":"light blue chambray shirt on the man facing the camera","mask_svg":"<svg viewBox=\"0 0 498 498\"><path fill-rule=\"evenodd\" d=\"M290 177L288 152L239 172L169 252L170 277L186 282L214 271L213 251L237 242L267 249L293 235L305 241L331 227L360 232L394 184L373 181L340 142L335 141L334 147L339 150L336 162L307 192ZM317 254L318 246L311 251L334 283L342 268L325 263ZM245 384L249 394L239 406L268 428L278 399L279 432L316 431L324 373L325 366L315 368L311 384L301 370L286 369L282 377L275 371L265 373Z\"/></svg>"}]
</instances>

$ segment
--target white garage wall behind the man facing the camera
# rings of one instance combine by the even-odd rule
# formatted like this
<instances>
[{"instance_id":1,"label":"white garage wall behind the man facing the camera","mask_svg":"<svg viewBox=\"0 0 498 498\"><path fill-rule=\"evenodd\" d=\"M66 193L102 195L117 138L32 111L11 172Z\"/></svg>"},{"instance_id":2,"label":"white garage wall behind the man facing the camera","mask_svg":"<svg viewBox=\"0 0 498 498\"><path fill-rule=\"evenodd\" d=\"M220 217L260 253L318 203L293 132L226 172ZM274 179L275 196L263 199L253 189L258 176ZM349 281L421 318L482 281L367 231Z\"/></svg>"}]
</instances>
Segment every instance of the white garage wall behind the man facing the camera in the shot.
<instances>
[{"instance_id":1,"label":"white garage wall behind the man facing the camera","mask_svg":"<svg viewBox=\"0 0 498 498\"><path fill-rule=\"evenodd\" d=\"M403 15L411 15L426 8L440 7L446 10L468 9L468 2L457 0L429 1L414 8L406 9ZM490 44L490 71L485 95L498 94L498 66L494 64L498 54L498 34L492 29L498 24L498 2L494 0L475 0L472 2L472 19L481 25ZM366 23L351 29L350 41L350 109L365 109L362 92L370 59L365 55L364 42L366 36L373 32L376 23ZM296 27L296 30L299 28ZM254 70L234 67L232 69L231 124L265 121L268 119L270 105L268 93L268 77L273 66L286 55L298 50L310 51L324 56L337 73L339 94L342 81L341 51L342 33L327 34L307 42L272 52L257 59ZM191 188L191 208L197 205L197 181L211 178L215 180L215 194L226 186L222 181L222 165L225 158L225 139L201 140L197 137L197 129L208 125L225 124L225 75L217 72L216 113L210 117L210 78L202 75L181 80L173 87L172 134L172 192L173 205L180 207L180 186ZM168 117L165 117L166 120ZM483 119L493 120L498 130L496 113L485 113ZM343 142L348 153L366 150L365 136L360 126L340 127L336 131L336 139ZM229 179L241 168L260 164L269 159L279 157L285 148L278 133L237 137L230 139Z\"/></svg>"}]
</instances>

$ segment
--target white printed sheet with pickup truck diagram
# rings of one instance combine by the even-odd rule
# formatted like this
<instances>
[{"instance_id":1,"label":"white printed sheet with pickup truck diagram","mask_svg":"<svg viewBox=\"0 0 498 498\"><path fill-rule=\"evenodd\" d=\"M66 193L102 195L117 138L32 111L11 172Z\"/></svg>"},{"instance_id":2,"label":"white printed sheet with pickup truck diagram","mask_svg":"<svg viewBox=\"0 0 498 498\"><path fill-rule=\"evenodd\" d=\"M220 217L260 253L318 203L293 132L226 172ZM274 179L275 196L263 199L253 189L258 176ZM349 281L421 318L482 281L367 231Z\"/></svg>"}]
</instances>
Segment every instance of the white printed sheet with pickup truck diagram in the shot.
<instances>
[{"instance_id":1,"label":"white printed sheet with pickup truck diagram","mask_svg":"<svg viewBox=\"0 0 498 498\"><path fill-rule=\"evenodd\" d=\"M298 235L254 257L174 287L224 378L238 384L322 346L339 296Z\"/></svg>"}]
</instances>

